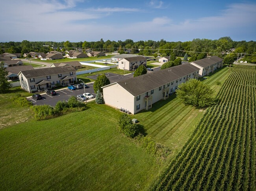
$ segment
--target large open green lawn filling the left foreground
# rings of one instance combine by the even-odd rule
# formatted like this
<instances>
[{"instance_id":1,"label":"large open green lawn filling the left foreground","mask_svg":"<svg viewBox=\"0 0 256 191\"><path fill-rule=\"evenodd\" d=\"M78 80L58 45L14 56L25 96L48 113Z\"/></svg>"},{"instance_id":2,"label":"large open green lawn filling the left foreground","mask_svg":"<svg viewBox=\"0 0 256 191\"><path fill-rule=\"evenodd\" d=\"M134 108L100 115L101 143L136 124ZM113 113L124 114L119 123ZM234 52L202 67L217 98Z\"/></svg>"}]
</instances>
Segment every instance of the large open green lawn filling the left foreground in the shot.
<instances>
[{"instance_id":1,"label":"large open green lawn filling the left foreground","mask_svg":"<svg viewBox=\"0 0 256 191\"><path fill-rule=\"evenodd\" d=\"M165 164L119 133L119 111L88 107L0 129L0 190L147 189Z\"/></svg>"}]
</instances>

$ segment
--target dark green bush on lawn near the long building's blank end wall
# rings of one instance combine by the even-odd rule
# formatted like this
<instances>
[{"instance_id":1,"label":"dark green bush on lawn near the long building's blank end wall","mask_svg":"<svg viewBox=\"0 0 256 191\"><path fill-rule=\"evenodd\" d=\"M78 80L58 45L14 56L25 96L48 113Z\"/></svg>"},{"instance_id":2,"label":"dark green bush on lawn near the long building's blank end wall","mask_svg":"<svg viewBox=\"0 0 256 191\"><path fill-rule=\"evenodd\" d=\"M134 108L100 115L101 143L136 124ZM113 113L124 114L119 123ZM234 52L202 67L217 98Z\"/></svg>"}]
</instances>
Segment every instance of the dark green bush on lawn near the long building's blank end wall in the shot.
<instances>
[{"instance_id":1,"label":"dark green bush on lawn near the long building's blank end wall","mask_svg":"<svg viewBox=\"0 0 256 191\"><path fill-rule=\"evenodd\" d=\"M138 131L138 127L133 124L132 119L126 113L119 117L119 129L124 135L133 138Z\"/></svg>"}]
</instances>

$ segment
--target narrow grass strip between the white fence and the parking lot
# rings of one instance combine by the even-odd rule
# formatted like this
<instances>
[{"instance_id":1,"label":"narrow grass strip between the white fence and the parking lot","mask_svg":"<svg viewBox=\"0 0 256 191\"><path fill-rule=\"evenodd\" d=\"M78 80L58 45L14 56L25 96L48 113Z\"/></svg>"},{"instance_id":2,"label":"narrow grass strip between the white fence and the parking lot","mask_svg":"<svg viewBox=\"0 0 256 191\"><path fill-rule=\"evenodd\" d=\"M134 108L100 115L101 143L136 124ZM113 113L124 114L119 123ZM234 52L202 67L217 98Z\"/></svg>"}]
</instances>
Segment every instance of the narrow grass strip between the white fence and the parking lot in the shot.
<instances>
[{"instance_id":1,"label":"narrow grass strip between the white fence and the parking lot","mask_svg":"<svg viewBox=\"0 0 256 191\"><path fill-rule=\"evenodd\" d=\"M87 76L96 75L96 74L99 75L99 74L104 74L104 73L107 73L107 72L124 75L124 74L132 73L133 71L126 71L126 70L121 70L121 69L117 69L117 68L111 68L111 69L108 69L108 70L93 72L91 74L89 74L89 73L88 74L80 74L80 75L77 75L76 77L77 77L78 80L81 79L85 83L88 83L88 82L94 82L95 80L93 80L91 78L87 78Z\"/></svg>"}]
</instances>

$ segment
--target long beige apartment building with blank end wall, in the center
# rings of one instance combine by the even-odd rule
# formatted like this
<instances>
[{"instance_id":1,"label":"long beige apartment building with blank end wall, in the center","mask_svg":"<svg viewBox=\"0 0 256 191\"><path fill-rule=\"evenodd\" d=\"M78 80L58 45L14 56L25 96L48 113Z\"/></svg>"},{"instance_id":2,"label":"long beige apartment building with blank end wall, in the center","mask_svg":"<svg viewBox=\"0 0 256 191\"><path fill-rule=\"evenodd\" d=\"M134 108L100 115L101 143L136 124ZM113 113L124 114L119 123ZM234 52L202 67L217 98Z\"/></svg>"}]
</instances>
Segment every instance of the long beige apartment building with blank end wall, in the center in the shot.
<instances>
[{"instance_id":1,"label":"long beige apartment building with blank end wall, in the center","mask_svg":"<svg viewBox=\"0 0 256 191\"><path fill-rule=\"evenodd\" d=\"M105 103L135 114L169 97L179 84L198 78L199 68L189 63L129 78L102 87Z\"/></svg>"}]
</instances>

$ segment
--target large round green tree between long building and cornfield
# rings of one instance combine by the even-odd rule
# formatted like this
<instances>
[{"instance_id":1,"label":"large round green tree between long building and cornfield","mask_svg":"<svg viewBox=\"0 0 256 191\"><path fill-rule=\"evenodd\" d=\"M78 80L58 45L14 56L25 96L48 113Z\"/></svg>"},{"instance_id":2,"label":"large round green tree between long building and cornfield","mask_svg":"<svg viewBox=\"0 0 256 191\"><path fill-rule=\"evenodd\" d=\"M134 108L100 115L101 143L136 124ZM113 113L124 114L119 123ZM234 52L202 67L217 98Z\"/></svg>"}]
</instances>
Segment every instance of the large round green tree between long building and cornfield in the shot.
<instances>
[{"instance_id":1,"label":"large round green tree between long building and cornfield","mask_svg":"<svg viewBox=\"0 0 256 191\"><path fill-rule=\"evenodd\" d=\"M203 84L197 79L190 79L186 83L178 85L176 95L185 104L207 107L215 104L214 91L209 85Z\"/></svg>"}]
</instances>

